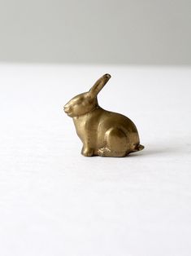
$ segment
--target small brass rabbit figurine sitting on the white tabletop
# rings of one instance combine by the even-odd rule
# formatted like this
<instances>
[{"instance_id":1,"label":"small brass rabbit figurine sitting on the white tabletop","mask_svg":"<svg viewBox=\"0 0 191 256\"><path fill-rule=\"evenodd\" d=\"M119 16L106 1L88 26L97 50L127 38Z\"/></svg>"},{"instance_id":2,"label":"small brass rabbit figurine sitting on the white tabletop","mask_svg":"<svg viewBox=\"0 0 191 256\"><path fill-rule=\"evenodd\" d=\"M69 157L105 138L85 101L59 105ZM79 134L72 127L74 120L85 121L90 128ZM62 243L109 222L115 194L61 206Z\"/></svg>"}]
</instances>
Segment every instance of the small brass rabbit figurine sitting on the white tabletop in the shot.
<instances>
[{"instance_id":1,"label":"small brass rabbit figurine sitting on the white tabletop","mask_svg":"<svg viewBox=\"0 0 191 256\"><path fill-rule=\"evenodd\" d=\"M88 92L76 95L64 106L64 112L73 118L85 157L125 157L144 148L128 117L98 105L97 95L110 78L109 74L103 75Z\"/></svg>"}]
</instances>

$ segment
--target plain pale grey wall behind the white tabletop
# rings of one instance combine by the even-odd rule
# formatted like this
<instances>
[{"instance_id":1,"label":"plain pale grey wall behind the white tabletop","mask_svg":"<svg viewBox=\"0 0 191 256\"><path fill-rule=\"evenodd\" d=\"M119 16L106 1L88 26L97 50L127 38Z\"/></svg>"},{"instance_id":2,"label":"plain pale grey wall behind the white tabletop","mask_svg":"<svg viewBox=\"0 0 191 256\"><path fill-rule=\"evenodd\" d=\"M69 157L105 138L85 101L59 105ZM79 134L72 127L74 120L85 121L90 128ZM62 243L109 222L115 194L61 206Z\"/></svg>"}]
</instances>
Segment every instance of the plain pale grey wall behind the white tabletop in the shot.
<instances>
[{"instance_id":1,"label":"plain pale grey wall behind the white tabletop","mask_svg":"<svg viewBox=\"0 0 191 256\"><path fill-rule=\"evenodd\" d=\"M191 64L190 0L0 0L0 61Z\"/></svg>"}]
</instances>

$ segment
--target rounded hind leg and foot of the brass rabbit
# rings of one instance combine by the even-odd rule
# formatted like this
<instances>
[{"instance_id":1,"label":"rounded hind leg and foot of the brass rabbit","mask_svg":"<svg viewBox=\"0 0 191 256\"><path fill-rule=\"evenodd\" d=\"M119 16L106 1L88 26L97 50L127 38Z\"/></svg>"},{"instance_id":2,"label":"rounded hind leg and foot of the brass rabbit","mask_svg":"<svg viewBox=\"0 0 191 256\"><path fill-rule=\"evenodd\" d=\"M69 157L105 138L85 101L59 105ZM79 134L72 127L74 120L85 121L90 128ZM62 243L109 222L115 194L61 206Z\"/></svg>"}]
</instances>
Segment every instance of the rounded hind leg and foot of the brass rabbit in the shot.
<instances>
[{"instance_id":1,"label":"rounded hind leg and foot of the brass rabbit","mask_svg":"<svg viewBox=\"0 0 191 256\"><path fill-rule=\"evenodd\" d=\"M111 128L106 131L105 147L98 149L101 157L125 157L127 155L128 139L123 130Z\"/></svg>"}]
</instances>

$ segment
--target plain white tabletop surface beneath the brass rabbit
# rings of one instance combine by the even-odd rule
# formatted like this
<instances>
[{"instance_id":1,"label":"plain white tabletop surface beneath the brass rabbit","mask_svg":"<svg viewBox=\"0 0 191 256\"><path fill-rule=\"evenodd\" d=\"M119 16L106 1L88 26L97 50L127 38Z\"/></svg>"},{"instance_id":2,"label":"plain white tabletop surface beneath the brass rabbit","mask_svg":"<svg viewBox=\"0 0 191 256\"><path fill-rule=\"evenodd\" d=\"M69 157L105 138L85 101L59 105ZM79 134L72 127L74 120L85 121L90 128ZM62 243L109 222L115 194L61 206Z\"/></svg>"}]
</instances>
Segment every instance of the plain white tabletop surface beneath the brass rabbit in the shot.
<instances>
[{"instance_id":1,"label":"plain white tabletop surface beneath the brass rabbit","mask_svg":"<svg viewBox=\"0 0 191 256\"><path fill-rule=\"evenodd\" d=\"M142 152L80 155L63 104L104 73ZM0 109L0 255L190 256L191 68L1 64Z\"/></svg>"}]
</instances>

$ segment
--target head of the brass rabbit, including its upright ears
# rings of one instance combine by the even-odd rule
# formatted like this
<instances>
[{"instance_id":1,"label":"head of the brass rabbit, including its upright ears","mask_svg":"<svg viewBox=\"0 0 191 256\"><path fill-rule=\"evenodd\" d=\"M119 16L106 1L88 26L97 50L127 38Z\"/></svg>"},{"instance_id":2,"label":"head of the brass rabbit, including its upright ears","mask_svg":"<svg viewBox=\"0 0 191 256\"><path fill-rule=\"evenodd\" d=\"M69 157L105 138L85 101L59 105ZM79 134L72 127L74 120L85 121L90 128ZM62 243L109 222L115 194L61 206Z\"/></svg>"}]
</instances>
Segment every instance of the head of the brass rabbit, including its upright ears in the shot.
<instances>
[{"instance_id":1,"label":"head of the brass rabbit, including its upright ears","mask_svg":"<svg viewBox=\"0 0 191 256\"><path fill-rule=\"evenodd\" d=\"M69 117L80 117L91 112L94 108L98 108L97 95L110 78L111 75L109 74L100 77L88 92L76 95L76 97L72 98L64 106L64 112L67 113Z\"/></svg>"}]
</instances>

